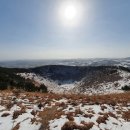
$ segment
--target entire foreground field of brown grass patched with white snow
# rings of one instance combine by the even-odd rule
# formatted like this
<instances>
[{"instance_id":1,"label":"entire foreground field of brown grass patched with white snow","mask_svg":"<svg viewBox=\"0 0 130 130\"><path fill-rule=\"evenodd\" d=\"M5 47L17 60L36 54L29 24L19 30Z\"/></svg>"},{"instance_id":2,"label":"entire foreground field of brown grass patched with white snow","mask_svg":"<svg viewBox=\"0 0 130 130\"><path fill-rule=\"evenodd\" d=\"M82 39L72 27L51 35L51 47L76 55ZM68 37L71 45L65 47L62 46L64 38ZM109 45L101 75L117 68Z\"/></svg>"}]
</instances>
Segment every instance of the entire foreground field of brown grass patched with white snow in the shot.
<instances>
[{"instance_id":1,"label":"entire foreground field of brown grass patched with white snow","mask_svg":"<svg viewBox=\"0 0 130 130\"><path fill-rule=\"evenodd\" d=\"M130 130L130 93L0 93L0 130Z\"/></svg>"}]
</instances>

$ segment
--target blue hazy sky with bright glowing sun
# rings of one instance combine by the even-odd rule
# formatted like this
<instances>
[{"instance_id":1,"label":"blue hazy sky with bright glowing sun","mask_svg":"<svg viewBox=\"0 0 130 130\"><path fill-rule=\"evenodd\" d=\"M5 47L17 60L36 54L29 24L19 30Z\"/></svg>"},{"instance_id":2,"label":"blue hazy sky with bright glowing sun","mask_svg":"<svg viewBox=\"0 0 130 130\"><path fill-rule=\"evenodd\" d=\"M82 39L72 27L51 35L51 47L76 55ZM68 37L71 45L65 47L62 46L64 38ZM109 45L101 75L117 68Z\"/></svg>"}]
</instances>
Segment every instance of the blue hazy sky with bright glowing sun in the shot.
<instances>
[{"instance_id":1,"label":"blue hazy sky with bright glowing sun","mask_svg":"<svg viewBox=\"0 0 130 130\"><path fill-rule=\"evenodd\" d=\"M122 57L130 0L0 0L1 61Z\"/></svg>"}]
</instances>

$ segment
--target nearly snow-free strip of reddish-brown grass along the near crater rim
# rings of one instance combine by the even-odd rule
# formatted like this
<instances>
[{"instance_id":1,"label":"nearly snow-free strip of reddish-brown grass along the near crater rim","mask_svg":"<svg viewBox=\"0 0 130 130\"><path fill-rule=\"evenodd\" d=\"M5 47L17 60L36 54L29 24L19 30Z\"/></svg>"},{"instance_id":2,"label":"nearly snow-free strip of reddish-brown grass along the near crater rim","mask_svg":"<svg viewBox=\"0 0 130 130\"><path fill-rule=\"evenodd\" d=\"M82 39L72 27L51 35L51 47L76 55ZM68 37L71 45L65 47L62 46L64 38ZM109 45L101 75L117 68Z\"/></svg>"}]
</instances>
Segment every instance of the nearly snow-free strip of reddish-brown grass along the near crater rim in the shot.
<instances>
[{"instance_id":1,"label":"nearly snow-free strip of reddish-brown grass along the near crater rim","mask_svg":"<svg viewBox=\"0 0 130 130\"><path fill-rule=\"evenodd\" d=\"M32 93L29 95L33 95ZM127 102L130 102L130 92L119 93L119 94L108 94L108 95L77 95L77 94L36 94L41 96L42 98L56 99L60 100L61 98L68 99L68 104L77 106L80 102L83 104L109 104L115 106L118 103L122 103L124 105ZM48 100L47 100L48 101ZM48 101L49 102L49 101ZM105 108L102 108L105 109Z\"/></svg>"}]
</instances>

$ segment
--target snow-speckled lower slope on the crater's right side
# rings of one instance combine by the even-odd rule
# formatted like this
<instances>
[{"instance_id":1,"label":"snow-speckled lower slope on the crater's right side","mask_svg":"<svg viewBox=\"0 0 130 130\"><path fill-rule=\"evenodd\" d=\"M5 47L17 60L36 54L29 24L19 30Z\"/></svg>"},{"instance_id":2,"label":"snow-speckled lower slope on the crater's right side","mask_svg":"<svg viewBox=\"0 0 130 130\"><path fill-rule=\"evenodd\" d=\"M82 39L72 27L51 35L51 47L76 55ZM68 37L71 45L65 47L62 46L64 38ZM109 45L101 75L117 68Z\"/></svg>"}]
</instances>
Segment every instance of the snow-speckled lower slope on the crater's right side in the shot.
<instances>
[{"instance_id":1,"label":"snow-speckled lower slope on the crater's right side","mask_svg":"<svg viewBox=\"0 0 130 130\"><path fill-rule=\"evenodd\" d=\"M89 94L123 92L122 87L126 85L130 86L130 73L123 70L118 70L118 74L121 78L113 82L106 82L104 80L102 83L98 83L97 81L94 81L94 83L92 83L90 86L86 86L84 82L81 82L81 84L73 88L72 91Z\"/></svg>"}]
</instances>

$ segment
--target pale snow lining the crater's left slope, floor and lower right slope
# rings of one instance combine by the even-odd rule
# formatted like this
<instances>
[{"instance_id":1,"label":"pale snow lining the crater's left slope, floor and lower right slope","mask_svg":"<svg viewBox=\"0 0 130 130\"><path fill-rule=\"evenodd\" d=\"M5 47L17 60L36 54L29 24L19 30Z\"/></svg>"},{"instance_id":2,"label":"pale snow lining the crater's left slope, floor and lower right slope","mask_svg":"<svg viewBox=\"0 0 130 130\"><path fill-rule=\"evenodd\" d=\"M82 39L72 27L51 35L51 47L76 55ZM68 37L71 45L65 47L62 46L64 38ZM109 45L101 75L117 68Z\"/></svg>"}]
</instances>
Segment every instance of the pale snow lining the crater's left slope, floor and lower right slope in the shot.
<instances>
[{"instance_id":1,"label":"pale snow lining the crater's left slope, floor and lower right slope","mask_svg":"<svg viewBox=\"0 0 130 130\"><path fill-rule=\"evenodd\" d=\"M86 90L84 93L86 94L97 94L97 93L120 93L123 92L121 89L125 85L130 85L130 73L125 71L118 70L119 75L122 77L121 80L115 81L115 82L104 82L101 84L97 84L97 86L93 87L86 87ZM80 93L80 87L79 84L82 83L82 80L80 82L66 82L61 85L59 85L56 81L51 81L48 79L45 79L39 75L36 75L34 73L19 73L21 77L24 77L25 79L31 79L39 84L44 84L47 86L48 90L54 93ZM98 88L98 89L97 89Z\"/></svg>"}]
</instances>

